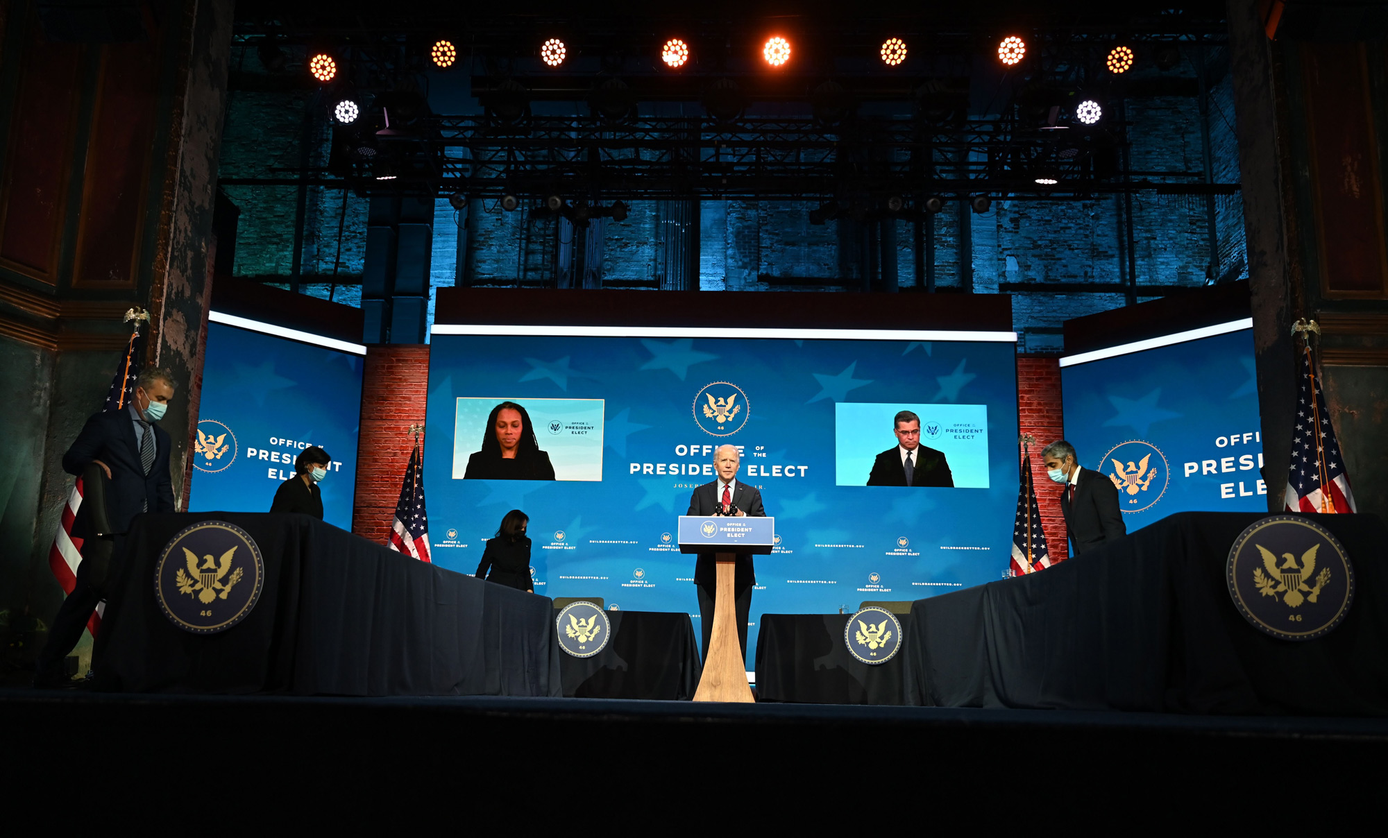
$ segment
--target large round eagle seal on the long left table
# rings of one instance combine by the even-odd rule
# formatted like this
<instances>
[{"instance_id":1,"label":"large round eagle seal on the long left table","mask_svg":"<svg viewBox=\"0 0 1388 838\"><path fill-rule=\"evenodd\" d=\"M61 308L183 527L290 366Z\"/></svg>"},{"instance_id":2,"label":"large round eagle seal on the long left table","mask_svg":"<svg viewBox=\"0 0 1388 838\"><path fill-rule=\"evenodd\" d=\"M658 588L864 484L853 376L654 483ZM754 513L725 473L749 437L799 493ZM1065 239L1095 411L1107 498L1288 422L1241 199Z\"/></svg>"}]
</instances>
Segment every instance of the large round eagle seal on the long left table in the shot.
<instances>
[{"instance_id":1,"label":"large round eagle seal on the long left table","mask_svg":"<svg viewBox=\"0 0 1388 838\"><path fill-rule=\"evenodd\" d=\"M260 601L265 559L250 533L204 520L164 545L154 594L171 623L193 634L226 631Z\"/></svg>"}]
</instances>

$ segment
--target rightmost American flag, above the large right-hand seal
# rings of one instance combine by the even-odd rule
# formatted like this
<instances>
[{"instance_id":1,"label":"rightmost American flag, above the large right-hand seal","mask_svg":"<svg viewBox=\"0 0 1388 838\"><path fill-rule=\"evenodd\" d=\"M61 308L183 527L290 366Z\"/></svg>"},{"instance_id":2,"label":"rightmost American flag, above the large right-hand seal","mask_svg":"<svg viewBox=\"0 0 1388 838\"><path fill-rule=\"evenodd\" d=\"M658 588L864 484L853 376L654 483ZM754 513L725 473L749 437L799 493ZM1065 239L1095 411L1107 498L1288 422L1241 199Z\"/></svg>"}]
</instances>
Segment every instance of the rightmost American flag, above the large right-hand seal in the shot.
<instances>
[{"instance_id":1,"label":"rightmost American flag, above the large right-hand seal","mask_svg":"<svg viewBox=\"0 0 1388 838\"><path fill-rule=\"evenodd\" d=\"M1292 465L1287 477L1288 512L1356 512L1355 494L1349 491L1349 474L1335 441L1335 426L1326 409L1326 395L1320 390L1306 347L1302 361L1302 382L1296 394L1296 430L1292 431Z\"/></svg>"}]
</instances>

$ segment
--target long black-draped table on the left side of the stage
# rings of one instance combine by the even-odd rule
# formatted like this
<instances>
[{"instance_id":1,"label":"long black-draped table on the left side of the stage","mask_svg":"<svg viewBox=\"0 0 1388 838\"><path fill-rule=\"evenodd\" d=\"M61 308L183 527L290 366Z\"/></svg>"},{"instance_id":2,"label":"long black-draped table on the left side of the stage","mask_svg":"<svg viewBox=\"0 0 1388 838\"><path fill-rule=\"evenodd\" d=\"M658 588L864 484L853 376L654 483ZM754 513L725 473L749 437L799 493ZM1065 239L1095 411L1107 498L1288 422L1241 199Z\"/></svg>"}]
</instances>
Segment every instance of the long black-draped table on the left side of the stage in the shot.
<instances>
[{"instance_id":1,"label":"long black-draped table on the left side of the stage","mask_svg":"<svg viewBox=\"0 0 1388 838\"><path fill-rule=\"evenodd\" d=\"M244 620L192 634L164 616L154 569L183 527L225 520L260 545L265 584ZM107 594L97 687L126 692L559 695L554 609L418 562L307 515L136 519Z\"/></svg>"}]
</instances>

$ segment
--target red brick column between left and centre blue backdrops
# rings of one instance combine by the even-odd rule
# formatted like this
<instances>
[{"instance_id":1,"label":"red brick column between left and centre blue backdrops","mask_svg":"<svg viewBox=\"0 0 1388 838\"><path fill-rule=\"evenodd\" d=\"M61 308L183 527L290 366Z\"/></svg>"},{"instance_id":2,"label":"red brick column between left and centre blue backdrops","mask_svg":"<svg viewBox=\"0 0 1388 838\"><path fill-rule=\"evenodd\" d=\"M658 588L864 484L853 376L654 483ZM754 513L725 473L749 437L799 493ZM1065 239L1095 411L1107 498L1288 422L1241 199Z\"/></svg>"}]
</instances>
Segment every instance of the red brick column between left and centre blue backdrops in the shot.
<instances>
[{"instance_id":1,"label":"red brick column between left and centre blue backdrops","mask_svg":"<svg viewBox=\"0 0 1388 838\"><path fill-rule=\"evenodd\" d=\"M386 544L409 465L411 425L423 425L429 390L429 347L366 347L357 443L357 499L353 533Z\"/></svg>"}]
</instances>

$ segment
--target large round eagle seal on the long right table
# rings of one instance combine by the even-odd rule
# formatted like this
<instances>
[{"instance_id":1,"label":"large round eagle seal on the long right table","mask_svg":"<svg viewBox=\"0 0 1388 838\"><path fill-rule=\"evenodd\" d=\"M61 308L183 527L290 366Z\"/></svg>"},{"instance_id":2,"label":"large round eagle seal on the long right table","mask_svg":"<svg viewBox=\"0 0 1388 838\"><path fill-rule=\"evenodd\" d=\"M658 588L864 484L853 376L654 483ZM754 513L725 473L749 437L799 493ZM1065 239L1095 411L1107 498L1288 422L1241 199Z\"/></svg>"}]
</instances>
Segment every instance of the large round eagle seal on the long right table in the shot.
<instances>
[{"instance_id":1,"label":"large round eagle seal on the long right table","mask_svg":"<svg viewBox=\"0 0 1388 838\"><path fill-rule=\"evenodd\" d=\"M1224 576L1238 613L1281 640L1328 634L1355 599L1349 554L1324 527L1296 515L1270 515L1239 533Z\"/></svg>"}]
</instances>

